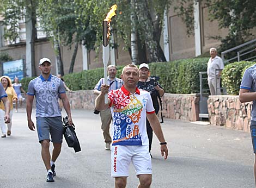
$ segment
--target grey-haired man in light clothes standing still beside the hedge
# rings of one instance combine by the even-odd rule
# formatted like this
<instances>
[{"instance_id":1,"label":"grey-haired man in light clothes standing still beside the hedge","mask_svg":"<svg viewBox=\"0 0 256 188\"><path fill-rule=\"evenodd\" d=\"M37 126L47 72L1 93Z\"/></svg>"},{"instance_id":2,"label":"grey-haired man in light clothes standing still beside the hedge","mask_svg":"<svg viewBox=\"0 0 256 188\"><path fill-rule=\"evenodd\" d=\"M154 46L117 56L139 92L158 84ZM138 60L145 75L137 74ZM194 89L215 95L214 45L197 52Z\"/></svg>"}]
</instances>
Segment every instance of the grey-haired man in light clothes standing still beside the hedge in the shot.
<instances>
[{"instance_id":1,"label":"grey-haired man in light clothes standing still beside the hedge","mask_svg":"<svg viewBox=\"0 0 256 188\"><path fill-rule=\"evenodd\" d=\"M221 95L221 72L224 68L224 64L222 59L218 57L216 48L210 48L210 55L211 58L207 64L208 85L210 93L211 95Z\"/></svg>"}]
</instances>

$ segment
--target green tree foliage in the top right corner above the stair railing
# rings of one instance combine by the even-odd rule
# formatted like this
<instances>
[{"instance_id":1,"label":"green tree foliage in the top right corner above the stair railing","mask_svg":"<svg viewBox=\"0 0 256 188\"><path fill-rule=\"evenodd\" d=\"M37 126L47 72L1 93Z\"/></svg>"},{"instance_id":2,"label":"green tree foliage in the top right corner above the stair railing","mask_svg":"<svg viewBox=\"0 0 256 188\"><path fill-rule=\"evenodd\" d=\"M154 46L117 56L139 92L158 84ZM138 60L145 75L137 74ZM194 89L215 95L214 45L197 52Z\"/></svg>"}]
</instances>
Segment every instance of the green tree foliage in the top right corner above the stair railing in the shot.
<instances>
[{"instance_id":1,"label":"green tree foliage in the top right corner above the stair railing","mask_svg":"<svg viewBox=\"0 0 256 188\"><path fill-rule=\"evenodd\" d=\"M181 16L187 26L187 34L193 34L193 4L203 3L202 0L177 0L175 11ZM217 20L219 28L227 28L229 33L226 37L211 36L221 39L222 44L219 51L240 45L249 39L252 29L256 26L256 8L254 0L205 0L209 8L210 21Z\"/></svg>"}]
</instances>

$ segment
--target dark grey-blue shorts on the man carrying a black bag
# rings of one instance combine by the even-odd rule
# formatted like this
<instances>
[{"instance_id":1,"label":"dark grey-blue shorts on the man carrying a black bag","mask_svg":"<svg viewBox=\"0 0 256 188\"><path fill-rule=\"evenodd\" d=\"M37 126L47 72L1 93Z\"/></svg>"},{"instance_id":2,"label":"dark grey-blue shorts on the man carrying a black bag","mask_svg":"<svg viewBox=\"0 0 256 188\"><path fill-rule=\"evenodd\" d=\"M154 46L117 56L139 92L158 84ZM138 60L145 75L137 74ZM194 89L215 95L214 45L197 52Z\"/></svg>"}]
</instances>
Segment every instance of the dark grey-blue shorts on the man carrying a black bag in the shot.
<instances>
[{"instance_id":1,"label":"dark grey-blue shorts on the man carrying a black bag","mask_svg":"<svg viewBox=\"0 0 256 188\"><path fill-rule=\"evenodd\" d=\"M39 142L50 140L53 143L62 143L63 126L62 117L36 117L36 129L38 131Z\"/></svg>"}]
</instances>

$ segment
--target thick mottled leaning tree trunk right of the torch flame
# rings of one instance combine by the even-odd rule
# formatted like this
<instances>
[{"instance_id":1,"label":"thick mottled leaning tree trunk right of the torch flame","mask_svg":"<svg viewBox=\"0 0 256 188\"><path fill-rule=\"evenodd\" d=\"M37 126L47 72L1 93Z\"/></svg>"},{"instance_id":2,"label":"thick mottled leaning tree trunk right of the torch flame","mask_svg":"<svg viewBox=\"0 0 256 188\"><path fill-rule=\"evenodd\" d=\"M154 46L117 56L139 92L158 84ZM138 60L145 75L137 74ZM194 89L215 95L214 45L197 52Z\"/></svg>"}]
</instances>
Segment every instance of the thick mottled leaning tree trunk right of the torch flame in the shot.
<instances>
[{"instance_id":1,"label":"thick mottled leaning tree trunk right of the torch flame","mask_svg":"<svg viewBox=\"0 0 256 188\"><path fill-rule=\"evenodd\" d=\"M149 8L146 0L131 0L132 9L135 10L138 22L145 35L145 45L149 52L149 62L162 62L166 61L163 51L156 41L154 32L153 21L149 13Z\"/></svg>"}]
</instances>

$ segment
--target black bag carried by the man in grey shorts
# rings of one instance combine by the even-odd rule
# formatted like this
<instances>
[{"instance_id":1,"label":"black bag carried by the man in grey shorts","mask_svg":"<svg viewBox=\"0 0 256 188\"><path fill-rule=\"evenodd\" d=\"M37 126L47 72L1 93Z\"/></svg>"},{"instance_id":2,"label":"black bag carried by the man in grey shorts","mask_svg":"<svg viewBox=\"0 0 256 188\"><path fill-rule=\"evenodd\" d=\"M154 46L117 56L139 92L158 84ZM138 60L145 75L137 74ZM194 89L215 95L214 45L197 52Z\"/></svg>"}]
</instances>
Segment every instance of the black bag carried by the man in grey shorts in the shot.
<instances>
[{"instance_id":1,"label":"black bag carried by the man in grey shorts","mask_svg":"<svg viewBox=\"0 0 256 188\"><path fill-rule=\"evenodd\" d=\"M63 134L68 146L74 148L75 152L80 152L81 147L76 136L75 125L69 126L68 116L63 117Z\"/></svg>"}]
</instances>

